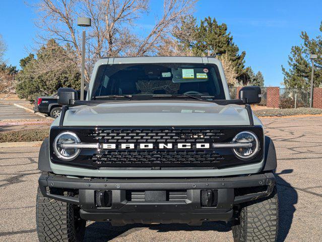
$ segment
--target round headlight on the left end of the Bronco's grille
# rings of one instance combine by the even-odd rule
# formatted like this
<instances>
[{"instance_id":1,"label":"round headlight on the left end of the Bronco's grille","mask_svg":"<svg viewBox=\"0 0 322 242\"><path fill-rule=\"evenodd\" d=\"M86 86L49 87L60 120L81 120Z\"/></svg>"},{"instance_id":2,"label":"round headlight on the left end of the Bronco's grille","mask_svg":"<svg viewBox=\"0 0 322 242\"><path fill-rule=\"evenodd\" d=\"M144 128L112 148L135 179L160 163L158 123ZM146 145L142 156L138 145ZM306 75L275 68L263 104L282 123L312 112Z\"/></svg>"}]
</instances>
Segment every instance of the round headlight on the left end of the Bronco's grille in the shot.
<instances>
[{"instance_id":1,"label":"round headlight on the left end of the Bronco's grille","mask_svg":"<svg viewBox=\"0 0 322 242\"><path fill-rule=\"evenodd\" d=\"M55 138L53 148L58 158L63 160L73 160L80 153L80 149L65 148L63 144L81 143L78 136L73 132L62 132Z\"/></svg>"}]
</instances>

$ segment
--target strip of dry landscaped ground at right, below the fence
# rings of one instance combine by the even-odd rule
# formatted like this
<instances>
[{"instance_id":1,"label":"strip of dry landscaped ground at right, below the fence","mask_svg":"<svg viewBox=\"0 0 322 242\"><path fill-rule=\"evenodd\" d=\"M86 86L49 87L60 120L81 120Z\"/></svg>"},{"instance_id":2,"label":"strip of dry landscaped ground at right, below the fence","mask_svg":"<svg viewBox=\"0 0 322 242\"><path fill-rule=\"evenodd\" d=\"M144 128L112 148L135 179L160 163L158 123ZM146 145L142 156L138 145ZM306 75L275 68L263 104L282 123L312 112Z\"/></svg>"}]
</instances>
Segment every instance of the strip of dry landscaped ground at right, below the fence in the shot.
<instances>
[{"instance_id":1,"label":"strip of dry landscaped ground at right, below the fence","mask_svg":"<svg viewBox=\"0 0 322 242\"><path fill-rule=\"evenodd\" d=\"M309 107L299 107L299 108L271 108L262 110L253 110L253 113L257 117L283 117L283 116L294 116L294 115L315 115L322 114L322 109L320 108L309 108Z\"/></svg>"}]
</instances>

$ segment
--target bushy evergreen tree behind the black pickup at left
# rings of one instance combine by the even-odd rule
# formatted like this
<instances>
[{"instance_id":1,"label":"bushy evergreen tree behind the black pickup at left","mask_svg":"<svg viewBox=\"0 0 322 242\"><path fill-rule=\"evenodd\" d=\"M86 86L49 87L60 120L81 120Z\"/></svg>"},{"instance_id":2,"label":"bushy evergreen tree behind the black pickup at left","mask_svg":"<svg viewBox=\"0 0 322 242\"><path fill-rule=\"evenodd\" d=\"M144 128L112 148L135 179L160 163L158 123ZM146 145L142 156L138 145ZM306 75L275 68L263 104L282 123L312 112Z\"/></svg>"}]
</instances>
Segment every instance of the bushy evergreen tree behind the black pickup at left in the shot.
<instances>
[{"instance_id":1,"label":"bushy evergreen tree behind the black pickup at left","mask_svg":"<svg viewBox=\"0 0 322 242\"><path fill-rule=\"evenodd\" d=\"M33 54L20 60L16 92L20 98L33 100L39 95L52 95L60 87L80 88L80 72L76 55L67 45L59 46L53 39Z\"/></svg>"}]
</instances>

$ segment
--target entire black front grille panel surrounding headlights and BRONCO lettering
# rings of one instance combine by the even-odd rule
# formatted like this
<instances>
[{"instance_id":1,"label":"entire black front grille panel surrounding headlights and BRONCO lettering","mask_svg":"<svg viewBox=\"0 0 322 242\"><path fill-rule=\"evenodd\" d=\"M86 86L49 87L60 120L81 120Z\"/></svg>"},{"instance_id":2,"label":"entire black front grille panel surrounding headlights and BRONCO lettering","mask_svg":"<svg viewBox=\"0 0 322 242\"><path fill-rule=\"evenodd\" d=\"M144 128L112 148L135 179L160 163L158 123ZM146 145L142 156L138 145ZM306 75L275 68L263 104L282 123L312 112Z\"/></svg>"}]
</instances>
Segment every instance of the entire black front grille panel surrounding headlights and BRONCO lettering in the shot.
<instances>
[{"instance_id":1,"label":"entire black front grille panel surrounding headlights and BRONCO lettering","mask_svg":"<svg viewBox=\"0 0 322 242\"><path fill-rule=\"evenodd\" d=\"M63 132L76 133L82 143L100 143L102 149L81 149L77 158L64 161L52 149L55 137ZM50 129L50 158L53 163L90 169L220 169L260 162L263 149L250 160L236 157L232 149L212 148L214 143L227 143L241 131L253 132L263 147L263 129L254 127L52 127ZM190 148L178 144L190 144ZM108 144L114 148L108 149ZM132 144L134 148L122 148ZM142 149L140 144L153 145ZM159 144L172 144L163 149ZM209 144L210 148L202 148ZM105 145L105 148L104 148Z\"/></svg>"}]
</instances>

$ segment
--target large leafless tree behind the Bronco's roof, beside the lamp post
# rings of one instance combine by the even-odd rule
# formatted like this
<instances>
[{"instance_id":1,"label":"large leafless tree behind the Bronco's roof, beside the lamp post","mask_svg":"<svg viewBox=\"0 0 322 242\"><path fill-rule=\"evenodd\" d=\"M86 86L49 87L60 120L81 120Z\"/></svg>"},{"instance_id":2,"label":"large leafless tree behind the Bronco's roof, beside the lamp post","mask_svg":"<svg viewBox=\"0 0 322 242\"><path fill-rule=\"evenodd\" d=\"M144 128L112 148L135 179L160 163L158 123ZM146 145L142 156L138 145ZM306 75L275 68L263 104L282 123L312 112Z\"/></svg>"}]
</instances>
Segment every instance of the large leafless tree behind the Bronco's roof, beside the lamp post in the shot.
<instances>
[{"instance_id":1,"label":"large leafless tree behind the Bronco's roof, beside the lamp post","mask_svg":"<svg viewBox=\"0 0 322 242\"><path fill-rule=\"evenodd\" d=\"M75 49L78 63L81 59L80 28L77 17L92 19L88 31L86 79L89 80L94 62L102 56L153 55L167 40L180 18L194 8L195 0L164 0L162 15L145 36L138 31L137 20L149 12L149 0L40 0L36 5L41 28L41 42L54 38L70 43Z\"/></svg>"}]
</instances>

